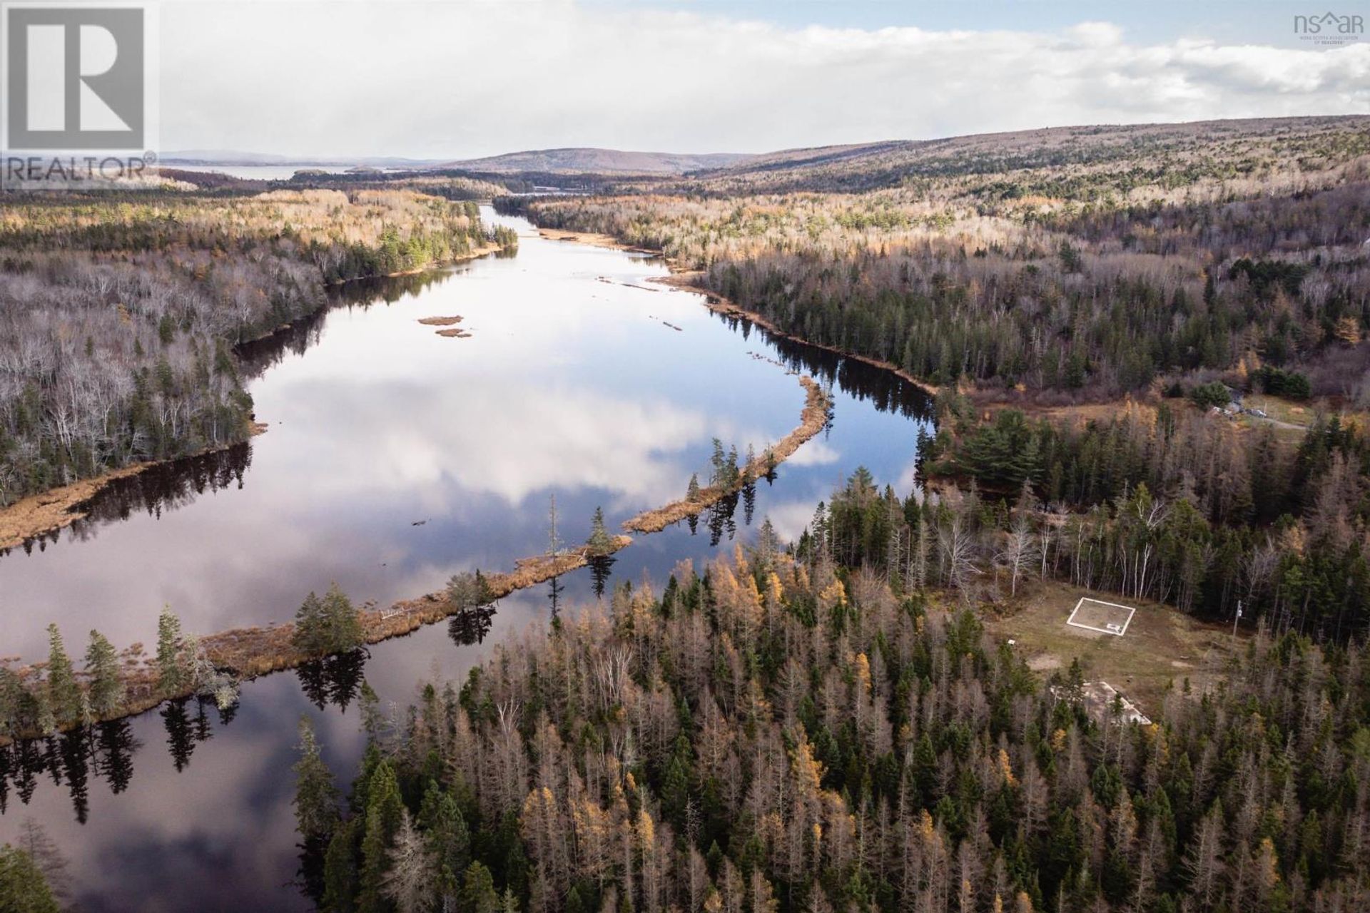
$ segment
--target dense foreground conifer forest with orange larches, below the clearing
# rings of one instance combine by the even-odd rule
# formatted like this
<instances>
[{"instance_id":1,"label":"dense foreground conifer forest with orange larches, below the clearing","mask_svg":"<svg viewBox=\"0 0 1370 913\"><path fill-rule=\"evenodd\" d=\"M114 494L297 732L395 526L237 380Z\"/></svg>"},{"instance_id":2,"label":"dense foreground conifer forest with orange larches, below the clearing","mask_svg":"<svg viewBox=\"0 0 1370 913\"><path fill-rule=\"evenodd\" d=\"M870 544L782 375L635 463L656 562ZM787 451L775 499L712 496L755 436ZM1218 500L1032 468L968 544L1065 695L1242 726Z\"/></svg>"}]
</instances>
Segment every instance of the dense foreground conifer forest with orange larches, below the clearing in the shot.
<instances>
[{"instance_id":1,"label":"dense foreground conifer forest with orange larches, below the clearing","mask_svg":"<svg viewBox=\"0 0 1370 913\"><path fill-rule=\"evenodd\" d=\"M1258 635L1122 724L969 612L738 550L363 697L345 801L301 724L301 880L364 913L1354 910L1367 669Z\"/></svg>"}]
</instances>

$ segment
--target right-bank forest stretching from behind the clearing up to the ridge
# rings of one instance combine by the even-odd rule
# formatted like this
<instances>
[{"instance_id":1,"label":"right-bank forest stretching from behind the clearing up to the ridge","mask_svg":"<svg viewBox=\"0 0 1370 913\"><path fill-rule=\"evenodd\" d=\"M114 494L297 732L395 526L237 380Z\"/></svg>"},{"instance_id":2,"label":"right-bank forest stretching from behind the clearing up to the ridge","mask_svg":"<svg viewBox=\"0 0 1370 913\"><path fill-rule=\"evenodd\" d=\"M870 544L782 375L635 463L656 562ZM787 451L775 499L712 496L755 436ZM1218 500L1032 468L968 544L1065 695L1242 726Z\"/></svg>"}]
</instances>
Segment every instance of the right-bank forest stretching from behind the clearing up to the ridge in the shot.
<instances>
[{"instance_id":1,"label":"right-bank forest stretching from behind the clearing up to the ridge","mask_svg":"<svg viewBox=\"0 0 1370 913\"><path fill-rule=\"evenodd\" d=\"M660 249L762 326L937 390L929 497L848 486L871 516L841 564L925 553L919 582L978 595L1030 553L1201 617L1240 601L1363 638L1367 144L1365 118L1078 127L497 203ZM1244 396L1304 417L1237 422Z\"/></svg>"}]
</instances>

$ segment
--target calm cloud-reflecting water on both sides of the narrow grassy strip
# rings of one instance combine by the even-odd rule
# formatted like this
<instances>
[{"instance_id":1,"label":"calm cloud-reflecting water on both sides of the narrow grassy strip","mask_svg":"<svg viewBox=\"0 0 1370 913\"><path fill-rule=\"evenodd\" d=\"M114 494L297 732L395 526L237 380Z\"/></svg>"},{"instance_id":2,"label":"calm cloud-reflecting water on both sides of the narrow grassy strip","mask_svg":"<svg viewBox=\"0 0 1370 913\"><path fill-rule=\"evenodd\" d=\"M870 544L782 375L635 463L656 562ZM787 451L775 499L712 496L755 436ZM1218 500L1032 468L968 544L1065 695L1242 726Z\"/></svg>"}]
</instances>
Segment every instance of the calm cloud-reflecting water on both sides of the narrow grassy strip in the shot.
<instances>
[{"instance_id":1,"label":"calm cloud-reflecting water on both sides of the narrow grassy strip","mask_svg":"<svg viewBox=\"0 0 1370 913\"><path fill-rule=\"evenodd\" d=\"M0 557L0 656L45 656L49 621L79 654L92 627L119 646L155 643L163 604L188 631L212 632L289 620L330 582L385 604L458 571L507 569L547 548L552 496L560 538L580 542L596 506L616 527L681 497L692 472L707 478L712 438L745 453L788 434L804 396L784 365L833 386L830 427L730 527L640 538L610 586L664 582L680 558L729 548L733 528L748 538L762 517L793 538L858 465L912 486L926 401L910 385L648 283L666 272L659 260L485 216L521 230L518 256L352 286L245 353L264 435L112 489L90 520ZM470 338L418 323L452 315ZM514 594L484 624L374 646L364 668L248 683L227 720L189 702L0 753L0 840L25 817L41 823L86 910L308 909L292 883L300 716L349 782L356 708L330 695L364 675L404 704L421 679L463 676L484 645L545 620L549 597L593 600L593 576Z\"/></svg>"}]
</instances>

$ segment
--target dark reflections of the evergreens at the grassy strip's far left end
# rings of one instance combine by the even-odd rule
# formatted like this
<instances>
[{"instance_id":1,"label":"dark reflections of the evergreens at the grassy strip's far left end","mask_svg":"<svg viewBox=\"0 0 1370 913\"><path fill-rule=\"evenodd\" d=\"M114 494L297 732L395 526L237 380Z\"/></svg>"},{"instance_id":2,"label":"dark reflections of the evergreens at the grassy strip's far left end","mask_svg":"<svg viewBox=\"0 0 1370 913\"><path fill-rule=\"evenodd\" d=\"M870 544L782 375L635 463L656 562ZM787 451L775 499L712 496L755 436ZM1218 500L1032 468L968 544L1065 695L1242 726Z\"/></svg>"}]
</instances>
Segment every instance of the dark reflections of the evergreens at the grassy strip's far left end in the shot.
<instances>
[{"instance_id":1,"label":"dark reflections of the evergreens at the grassy strip's far left end","mask_svg":"<svg viewBox=\"0 0 1370 913\"><path fill-rule=\"evenodd\" d=\"M127 720L4 746L0 749L0 813L8 810L11 790L27 805L38 779L49 777L58 786L66 784L77 820L85 824L90 776L104 780L110 793L123 793L133 779L133 756L138 747Z\"/></svg>"}]
</instances>

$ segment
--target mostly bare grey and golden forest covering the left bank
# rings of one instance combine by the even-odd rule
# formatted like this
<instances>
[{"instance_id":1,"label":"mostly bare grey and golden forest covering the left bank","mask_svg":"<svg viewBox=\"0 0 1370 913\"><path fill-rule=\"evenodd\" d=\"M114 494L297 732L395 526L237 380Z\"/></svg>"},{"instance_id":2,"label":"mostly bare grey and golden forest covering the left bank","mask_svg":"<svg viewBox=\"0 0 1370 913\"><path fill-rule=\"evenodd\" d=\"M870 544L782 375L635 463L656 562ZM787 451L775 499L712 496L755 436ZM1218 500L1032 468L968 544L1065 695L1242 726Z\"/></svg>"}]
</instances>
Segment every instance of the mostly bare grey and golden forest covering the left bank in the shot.
<instances>
[{"instance_id":1,"label":"mostly bare grey and golden forest covering the left bank","mask_svg":"<svg viewBox=\"0 0 1370 913\"><path fill-rule=\"evenodd\" d=\"M273 192L0 205L0 506L138 460L242 441L234 345L326 304L325 283L486 244L475 204Z\"/></svg>"}]
</instances>

